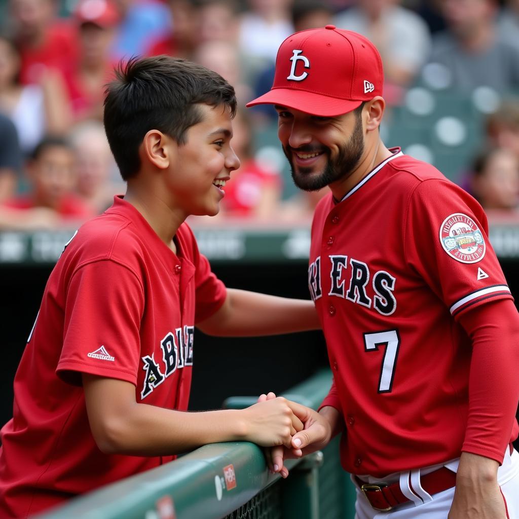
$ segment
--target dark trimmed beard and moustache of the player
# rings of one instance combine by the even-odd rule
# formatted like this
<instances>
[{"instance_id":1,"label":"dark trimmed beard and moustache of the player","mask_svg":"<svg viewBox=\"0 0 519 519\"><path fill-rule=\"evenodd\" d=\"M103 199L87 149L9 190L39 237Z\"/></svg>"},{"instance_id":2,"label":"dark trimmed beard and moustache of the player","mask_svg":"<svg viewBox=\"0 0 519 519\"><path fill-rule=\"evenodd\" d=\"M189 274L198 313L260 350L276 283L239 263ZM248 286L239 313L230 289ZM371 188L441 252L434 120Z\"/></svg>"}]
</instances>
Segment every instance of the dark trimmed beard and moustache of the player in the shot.
<instances>
[{"instance_id":1,"label":"dark trimmed beard and moustache of the player","mask_svg":"<svg viewBox=\"0 0 519 519\"><path fill-rule=\"evenodd\" d=\"M301 146L297 148L297 152L299 153L315 153L321 151L322 148L318 149L315 146ZM324 153L328 156L328 160L321 174L311 174L313 168L301 166L297 166L297 169L294 168L292 152L283 146L283 153L290 163L292 179L295 185L305 191L318 191L333 182L347 178L353 173L364 153L361 113L356 112L353 133L346 143L339 146L337 157L332 160L330 158L330 149L326 148L324 150Z\"/></svg>"}]
</instances>

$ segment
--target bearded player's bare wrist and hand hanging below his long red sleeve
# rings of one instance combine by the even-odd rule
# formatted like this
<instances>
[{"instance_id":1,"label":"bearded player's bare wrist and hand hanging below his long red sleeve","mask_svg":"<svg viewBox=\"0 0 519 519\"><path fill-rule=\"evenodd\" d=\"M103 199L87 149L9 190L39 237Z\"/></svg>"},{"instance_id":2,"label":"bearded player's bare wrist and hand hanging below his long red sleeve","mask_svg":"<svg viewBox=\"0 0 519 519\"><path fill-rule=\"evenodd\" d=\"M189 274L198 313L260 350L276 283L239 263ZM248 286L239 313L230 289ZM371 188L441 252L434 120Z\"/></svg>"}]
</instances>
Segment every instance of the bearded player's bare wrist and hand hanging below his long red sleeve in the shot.
<instances>
[{"instance_id":1,"label":"bearded player's bare wrist and hand hanging below his long red sleeve","mask_svg":"<svg viewBox=\"0 0 519 519\"><path fill-rule=\"evenodd\" d=\"M462 453L448 519L506 519L497 483L498 462Z\"/></svg>"}]
</instances>

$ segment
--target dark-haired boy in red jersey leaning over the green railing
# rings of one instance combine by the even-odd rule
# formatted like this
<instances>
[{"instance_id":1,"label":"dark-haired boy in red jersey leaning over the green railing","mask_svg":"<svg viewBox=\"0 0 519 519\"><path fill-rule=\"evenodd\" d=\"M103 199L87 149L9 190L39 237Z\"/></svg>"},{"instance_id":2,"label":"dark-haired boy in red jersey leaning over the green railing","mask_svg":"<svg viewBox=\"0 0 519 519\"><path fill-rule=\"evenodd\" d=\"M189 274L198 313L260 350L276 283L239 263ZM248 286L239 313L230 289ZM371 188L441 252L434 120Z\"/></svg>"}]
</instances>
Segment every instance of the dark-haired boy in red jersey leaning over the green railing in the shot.
<instances>
[{"instance_id":1,"label":"dark-haired boy in red jersey leaning over the green railing","mask_svg":"<svg viewBox=\"0 0 519 519\"><path fill-rule=\"evenodd\" d=\"M185 413L194 326L214 335L316 329L313 303L226 290L189 214L218 212L239 160L234 89L194 63L131 60L104 124L127 193L82 226L52 270L1 431L0 517L28 517L174 458L233 440L290 445L284 399Z\"/></svg>"}]
</instances>

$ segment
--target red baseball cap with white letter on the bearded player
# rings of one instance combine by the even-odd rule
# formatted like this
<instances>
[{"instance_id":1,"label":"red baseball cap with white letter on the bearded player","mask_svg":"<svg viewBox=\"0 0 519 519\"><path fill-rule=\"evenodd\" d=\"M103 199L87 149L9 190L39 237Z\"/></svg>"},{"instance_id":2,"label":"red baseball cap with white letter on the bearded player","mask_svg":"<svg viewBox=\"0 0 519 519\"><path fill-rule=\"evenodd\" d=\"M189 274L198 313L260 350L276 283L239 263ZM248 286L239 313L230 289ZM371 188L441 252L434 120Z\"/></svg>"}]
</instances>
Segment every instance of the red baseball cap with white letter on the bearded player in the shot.
<instances>
[{"instance_id":1,"label":"red baseball cap with white letter on the bearded player","mask_svg":"<svg viewBox=\"0 0 519 519\"><path fill-rule=\"evenodd\" d=\"M278 50L272 88L247 106L279 104L333 117L382 95L383 83L382 60L370 40L326 25L284 40Z\"/></svg>"}]
</instances>

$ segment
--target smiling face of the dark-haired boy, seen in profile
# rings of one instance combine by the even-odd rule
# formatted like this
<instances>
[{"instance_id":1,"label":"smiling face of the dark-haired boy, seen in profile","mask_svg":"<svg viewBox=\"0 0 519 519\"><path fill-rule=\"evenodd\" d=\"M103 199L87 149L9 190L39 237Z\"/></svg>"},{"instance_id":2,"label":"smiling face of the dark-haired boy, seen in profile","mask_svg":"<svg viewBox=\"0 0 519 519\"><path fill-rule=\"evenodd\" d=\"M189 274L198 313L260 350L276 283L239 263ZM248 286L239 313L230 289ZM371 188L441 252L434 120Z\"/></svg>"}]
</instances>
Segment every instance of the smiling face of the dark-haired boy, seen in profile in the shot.
<instances>
[{"instance_id":1,"label":"smiling face of the dark-haired boy, seen in profile","mask_svg":"<svg viewBox=\"0 0 519 519\"><path fill-rule=\"evenodd\" d=\"M176 144L176 160L170 165L168 184L175 205L186 216L220 211L225 182L240 161L230 140L233 136L229 108L200 104L202 120L186 132L186 143Z\"/></svg>"}]
</instances>

